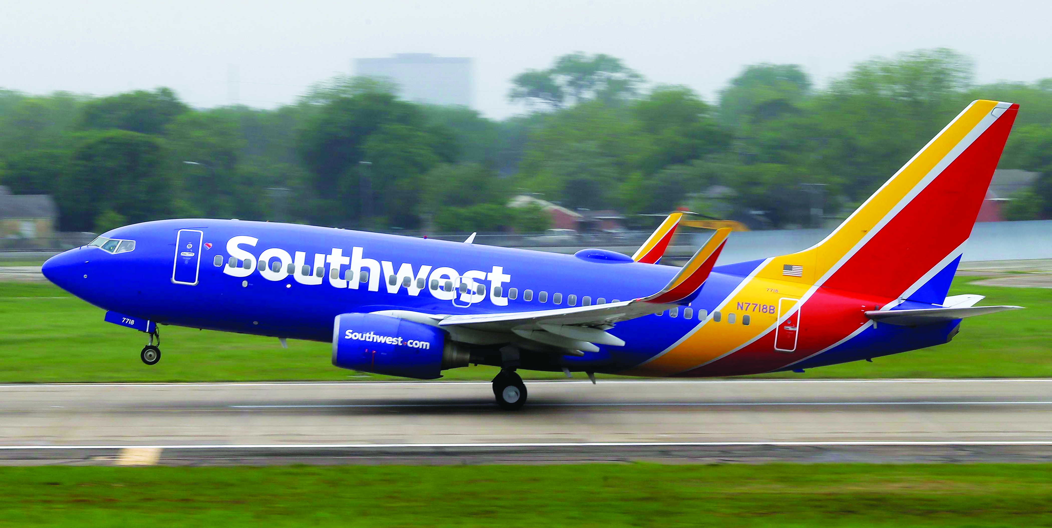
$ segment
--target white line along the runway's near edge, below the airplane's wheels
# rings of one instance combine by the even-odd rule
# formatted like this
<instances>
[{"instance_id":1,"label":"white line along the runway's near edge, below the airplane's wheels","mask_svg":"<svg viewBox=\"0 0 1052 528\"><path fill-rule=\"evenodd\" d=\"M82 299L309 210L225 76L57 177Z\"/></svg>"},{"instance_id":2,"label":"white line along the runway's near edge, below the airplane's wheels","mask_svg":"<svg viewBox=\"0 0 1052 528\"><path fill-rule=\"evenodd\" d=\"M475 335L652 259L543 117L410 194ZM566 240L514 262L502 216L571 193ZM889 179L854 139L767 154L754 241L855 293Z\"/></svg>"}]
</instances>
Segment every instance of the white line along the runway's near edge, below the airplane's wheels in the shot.
<instances>
[{"instance_id":1,"label":"white line along the runway's near edge, below the airplane's wheels","mask_svg":"<svg viewBox=\"0 0 1052 528\"><path fill-rule=\"evenodd\" d=\"M845 442L522 442L480 444L164 444L164 445L32 445L0 446L0 450L62 449L390 449L390 448L482 448L482 447L873 447L873 446L1052 446L1038 441L845 441ZM158 451L160 453L160 451Z\"/></svg>"}]
</instances>

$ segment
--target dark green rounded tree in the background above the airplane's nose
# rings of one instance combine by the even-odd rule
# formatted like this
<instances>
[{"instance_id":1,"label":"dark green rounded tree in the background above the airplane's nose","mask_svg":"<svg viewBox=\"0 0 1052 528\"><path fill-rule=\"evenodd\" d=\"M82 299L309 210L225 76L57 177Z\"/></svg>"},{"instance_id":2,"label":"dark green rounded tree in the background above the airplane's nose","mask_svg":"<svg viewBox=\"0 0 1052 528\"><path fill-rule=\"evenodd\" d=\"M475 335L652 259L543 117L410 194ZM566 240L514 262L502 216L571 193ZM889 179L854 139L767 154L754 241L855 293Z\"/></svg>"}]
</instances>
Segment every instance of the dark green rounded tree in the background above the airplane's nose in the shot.
<instances>
[{"instance_id":1,"label":"dark green rounded tree in the background above the airplane's nose","mask_svg":"<svg viewBox=\"0 0 1052 528\"><path fill-rule=\"evenodd\" d=\"M171 185L161 170L160 140L125 130L84 133L79 139L57 195L66 229L88 230L107 210L128 222L169 214Z\"/></svg>"}]
</instances>

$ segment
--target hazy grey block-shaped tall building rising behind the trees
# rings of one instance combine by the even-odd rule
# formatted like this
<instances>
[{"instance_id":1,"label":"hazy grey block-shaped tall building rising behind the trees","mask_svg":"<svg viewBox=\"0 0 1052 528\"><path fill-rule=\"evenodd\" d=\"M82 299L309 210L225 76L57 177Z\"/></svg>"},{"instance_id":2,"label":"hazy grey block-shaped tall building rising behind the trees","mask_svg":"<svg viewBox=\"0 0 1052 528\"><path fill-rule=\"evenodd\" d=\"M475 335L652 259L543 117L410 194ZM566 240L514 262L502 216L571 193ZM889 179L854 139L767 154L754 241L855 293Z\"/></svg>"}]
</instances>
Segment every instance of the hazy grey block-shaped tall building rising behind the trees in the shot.
<instances>
[{"instance_id":1,"label":"hazy grey block-shaped tall building rising behind the trees","mask_svg":"<svg viewBox=\"0 0 1052 528\"><path fill-rule=\"evenodd\" d=\"M388 59L356 59L355 75L389 77L402 99L471 106L472 59L431 54L396 54Z\"/></svg>"}]
</instances>

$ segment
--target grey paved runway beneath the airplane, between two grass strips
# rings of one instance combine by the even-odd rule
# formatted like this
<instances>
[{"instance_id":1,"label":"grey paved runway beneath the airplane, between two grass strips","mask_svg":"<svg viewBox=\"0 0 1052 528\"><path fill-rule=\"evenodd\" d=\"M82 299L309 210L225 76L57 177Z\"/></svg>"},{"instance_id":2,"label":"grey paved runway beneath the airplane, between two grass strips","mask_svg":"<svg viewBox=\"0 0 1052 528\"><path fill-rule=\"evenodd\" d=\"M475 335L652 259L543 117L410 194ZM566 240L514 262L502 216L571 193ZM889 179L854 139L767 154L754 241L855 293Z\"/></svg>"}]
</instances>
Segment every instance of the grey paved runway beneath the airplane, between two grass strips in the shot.
<instances>
[{"instance_id":1,"label":"grey paved runway beneath the airplane, between two grass strips","mask_svg":"<svg viewBox=\"0 0 1052 528\"><path fill-rule=\"evenodd\" d=\"M1052 380L0 385L0 464L1052 461Z\"/></svg>"}]
</instances>

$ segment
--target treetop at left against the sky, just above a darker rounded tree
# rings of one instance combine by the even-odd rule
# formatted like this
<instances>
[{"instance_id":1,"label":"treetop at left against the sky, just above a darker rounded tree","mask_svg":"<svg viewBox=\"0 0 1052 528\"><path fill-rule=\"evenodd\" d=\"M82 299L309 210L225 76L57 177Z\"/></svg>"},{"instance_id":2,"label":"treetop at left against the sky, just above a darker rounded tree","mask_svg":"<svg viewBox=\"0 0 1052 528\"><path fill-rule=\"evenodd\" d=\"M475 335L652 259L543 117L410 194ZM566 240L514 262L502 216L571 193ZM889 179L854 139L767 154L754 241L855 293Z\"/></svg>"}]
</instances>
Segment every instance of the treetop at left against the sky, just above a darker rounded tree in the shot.
<instances>
[{"instance_id":1,"label":"treetop at left against the sky, just above a darker rounded tree","mask_svg":"<svg viewBox=\"0 0 1052 528\"><path fill-rule=\"evenodd\" d=\"M179 115L189 110L169 88L136 90L106 97L84 105L81 129L119 128L160 135Z\"/></svg>"}]
</instances>

